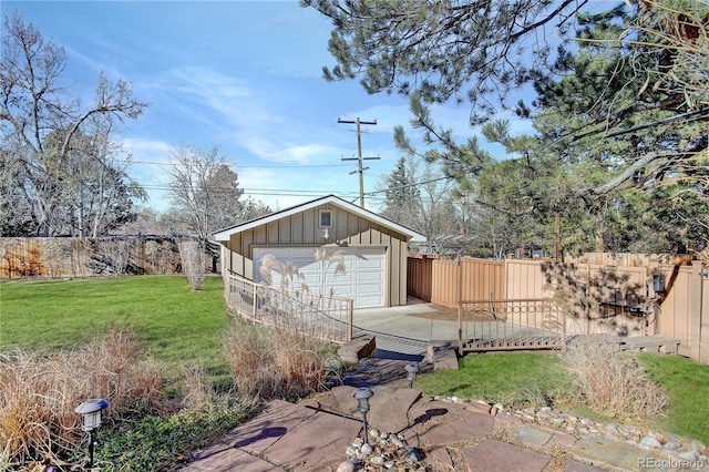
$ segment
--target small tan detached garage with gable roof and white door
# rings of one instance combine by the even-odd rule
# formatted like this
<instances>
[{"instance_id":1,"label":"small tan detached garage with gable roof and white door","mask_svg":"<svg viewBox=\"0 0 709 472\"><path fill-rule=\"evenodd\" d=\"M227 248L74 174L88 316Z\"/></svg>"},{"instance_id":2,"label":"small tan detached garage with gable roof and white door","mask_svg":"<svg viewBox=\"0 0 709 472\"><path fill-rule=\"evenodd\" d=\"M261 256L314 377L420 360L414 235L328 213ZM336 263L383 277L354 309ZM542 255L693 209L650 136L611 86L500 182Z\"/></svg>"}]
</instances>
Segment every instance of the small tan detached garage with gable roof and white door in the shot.
<instances>
[{"instance_id":1,"label":"small tan detached garage with gable roof and white door","mask_svg":"<svg viewBox=\"0 0 709 472\"><path fill-rule=\"evenodd\" d=\"M333 195L214 233L222 273L263 281L260 264L273 255L294 264L311 293L335 291L354 308L407 304L408 242L423 236ZM343 274L326 270L316 250L342 257ZM274 280L277 284L277 280Z\"/></svg>"}]
</instances>

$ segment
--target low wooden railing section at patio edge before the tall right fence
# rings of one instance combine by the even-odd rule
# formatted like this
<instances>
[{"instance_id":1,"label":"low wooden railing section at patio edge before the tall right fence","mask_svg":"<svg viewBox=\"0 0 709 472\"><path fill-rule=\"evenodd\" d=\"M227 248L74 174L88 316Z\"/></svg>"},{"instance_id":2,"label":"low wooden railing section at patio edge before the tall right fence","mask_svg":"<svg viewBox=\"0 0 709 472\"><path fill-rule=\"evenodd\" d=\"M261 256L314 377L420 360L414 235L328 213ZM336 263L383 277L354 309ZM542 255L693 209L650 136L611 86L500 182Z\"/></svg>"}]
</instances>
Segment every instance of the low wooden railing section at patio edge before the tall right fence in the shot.
<instances>
[{"instance_id":1,"label":"low wooden railing section at patio edge before the tall right fence","mask_svg":"<svg viewBox=\"0 0 709 472\"><path fill-rule=\"evenodd\" d=\"M458 308L459 350L465 352L561 349L564 311L551 298L463 300Z\"/></svg>"}]
</instances>

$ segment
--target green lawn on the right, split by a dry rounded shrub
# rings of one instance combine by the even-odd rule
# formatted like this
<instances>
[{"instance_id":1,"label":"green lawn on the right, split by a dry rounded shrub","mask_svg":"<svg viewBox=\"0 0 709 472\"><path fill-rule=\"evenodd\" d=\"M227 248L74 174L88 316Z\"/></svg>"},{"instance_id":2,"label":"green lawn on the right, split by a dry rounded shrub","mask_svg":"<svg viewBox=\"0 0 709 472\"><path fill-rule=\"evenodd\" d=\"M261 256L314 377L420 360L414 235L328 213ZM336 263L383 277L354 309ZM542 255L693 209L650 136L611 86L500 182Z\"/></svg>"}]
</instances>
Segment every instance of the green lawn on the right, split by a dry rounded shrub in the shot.
<instances>
[{"instance_id":1,"label":"green lawn on the right, split by a dry rounded shrub","mask_svg":"<svg viewBox=\"0 0 709 472\"><path fill-rule=\"evenodd\" d=\"M669 396L667 418L653 427L709 444L709 367L679 356L640 355L640 366ZM514 352L466 356L459 370L436 370L421 376L415 387L430 396L455 396L505 406L532 402L600 421L617 421L595 414L585 404L568 403L558 393L565 376L557 353Z\"/></svg>"}]
</instances>

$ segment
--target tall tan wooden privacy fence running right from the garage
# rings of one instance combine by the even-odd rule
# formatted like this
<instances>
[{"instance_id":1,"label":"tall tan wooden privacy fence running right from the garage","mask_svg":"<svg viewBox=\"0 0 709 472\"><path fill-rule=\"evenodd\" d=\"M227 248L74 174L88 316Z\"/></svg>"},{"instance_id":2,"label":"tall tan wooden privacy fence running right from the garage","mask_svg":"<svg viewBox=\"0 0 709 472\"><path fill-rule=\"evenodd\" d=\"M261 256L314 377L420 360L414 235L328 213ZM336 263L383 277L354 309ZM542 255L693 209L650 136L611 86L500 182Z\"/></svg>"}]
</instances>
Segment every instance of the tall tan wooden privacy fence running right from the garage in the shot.
<instances>
[{"instance_id":1,"label":"tall tan wooden privacy fence running right from the garage","mask_svg":"<svg viewBox=\"0 0 709 472\"><path fill-rule=\"evenodd\" d=\"M410 257L410 270L424 273L410 294L450 308L460 300L553 298L565 307L569 335L671 337L679 339L680 355L709 363L706 266L684 256L592 255L586 260L633 265ZM665 287L655 286L660 275ZM430 297L422 286L427 280Z\"/></svg>"}]
</instances>

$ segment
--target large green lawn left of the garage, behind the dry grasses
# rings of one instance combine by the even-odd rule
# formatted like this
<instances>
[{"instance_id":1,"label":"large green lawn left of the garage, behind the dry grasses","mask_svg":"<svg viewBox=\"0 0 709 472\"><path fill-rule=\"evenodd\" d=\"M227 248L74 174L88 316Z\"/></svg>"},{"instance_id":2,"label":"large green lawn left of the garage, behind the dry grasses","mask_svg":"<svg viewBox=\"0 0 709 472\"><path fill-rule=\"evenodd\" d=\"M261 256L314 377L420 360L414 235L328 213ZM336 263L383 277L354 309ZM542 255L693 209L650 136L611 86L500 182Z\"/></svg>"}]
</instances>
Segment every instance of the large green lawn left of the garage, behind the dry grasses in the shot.
<instances>
[{"instance_id":1,"label":"large green lawn left of the garage, behind the dry grasses","mask_svg":"<svg viewBox=\"0 0 709 472\"><path fill-rule=\"evenodd\" d=\"M181 276L4 281L0 351L68 348L130 328L143 355L163 362L168 378L191 362L222 376L228 372L222 345L226 312L220 277L207 277L199 291Z\"/></svg>"}]
</instances>

